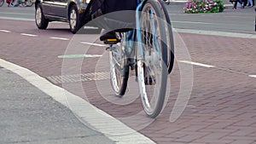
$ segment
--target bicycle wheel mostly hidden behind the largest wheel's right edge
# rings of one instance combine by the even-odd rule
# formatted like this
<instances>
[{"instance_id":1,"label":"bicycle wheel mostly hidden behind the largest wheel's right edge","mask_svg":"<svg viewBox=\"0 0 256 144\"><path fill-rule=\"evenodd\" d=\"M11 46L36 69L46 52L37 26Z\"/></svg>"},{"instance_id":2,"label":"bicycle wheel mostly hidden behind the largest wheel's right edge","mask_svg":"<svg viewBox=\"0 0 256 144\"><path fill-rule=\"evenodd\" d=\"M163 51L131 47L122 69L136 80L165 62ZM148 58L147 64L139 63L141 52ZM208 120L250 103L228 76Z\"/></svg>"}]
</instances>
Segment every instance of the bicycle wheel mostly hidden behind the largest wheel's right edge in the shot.
<instances>
[{"instance_id":1,"label":"bicycle wheel mostly hidden behind the largest wheel's right edge","mask_svg":"<svg viewBox=\"0 0 256 144\"><path fill-rule=\"evenodd\" d=\"M166 20L166 47L167 47L167 69L168 73L170 74L172 72L173 64L174 64L174 41L173 41L173 34L172 34L172 23L171 19L169 17L168 11L166 9L165 2L160 1L161 8L163 10L163 13L165 16L163 17L164 20ZM169 38L168 38L169 37Z\"/></svg>"}]
</instances>

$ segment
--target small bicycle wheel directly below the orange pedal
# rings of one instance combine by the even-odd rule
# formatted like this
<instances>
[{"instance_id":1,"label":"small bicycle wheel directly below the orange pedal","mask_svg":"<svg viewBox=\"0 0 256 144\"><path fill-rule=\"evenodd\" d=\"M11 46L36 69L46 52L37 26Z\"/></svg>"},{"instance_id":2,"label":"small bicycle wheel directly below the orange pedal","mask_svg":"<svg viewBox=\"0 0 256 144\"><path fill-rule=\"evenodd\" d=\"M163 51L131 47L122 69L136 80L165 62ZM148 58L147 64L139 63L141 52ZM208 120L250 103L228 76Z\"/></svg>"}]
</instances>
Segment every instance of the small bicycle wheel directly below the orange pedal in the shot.
<instances>
[{"instance_id":1,"label":"small bicycle wheel directly below the orange pedal","mask_svg":"<svg viewBox=\"0 0 256 144\"><path fill-rule=\"evenodd\" d=\"M120 44L115 44L110 49L110 82L115 95L122 97L128 84L129 65Z\"/></svg>"}]
</instances>

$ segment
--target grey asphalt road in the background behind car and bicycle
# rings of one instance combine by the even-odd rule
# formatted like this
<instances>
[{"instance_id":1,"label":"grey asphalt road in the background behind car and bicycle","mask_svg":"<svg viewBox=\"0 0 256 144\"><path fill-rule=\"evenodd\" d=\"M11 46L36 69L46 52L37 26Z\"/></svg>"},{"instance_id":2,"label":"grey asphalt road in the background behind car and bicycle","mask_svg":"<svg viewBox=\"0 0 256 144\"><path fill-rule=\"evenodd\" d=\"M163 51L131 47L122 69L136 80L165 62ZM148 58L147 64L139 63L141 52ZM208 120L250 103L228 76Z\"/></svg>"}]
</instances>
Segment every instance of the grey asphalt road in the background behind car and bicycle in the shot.
<instances>
[{"instance_id":1,"label":"grey asphalt road in the background behind car and bicycle","mask_svg":"<svg viewBox=\"0 0 256 144\"><path fill-rule=\"evenodd\" d=\"M184 3L171 3L166 6L172 20L173 28L207 30L218 32L255 33L255 11L253 8L231 9L230 3L223 13L218 14L184 14ZM7 7L0 9L0 18L34 20L34 6Z\"/></svg>"}]
</instances>

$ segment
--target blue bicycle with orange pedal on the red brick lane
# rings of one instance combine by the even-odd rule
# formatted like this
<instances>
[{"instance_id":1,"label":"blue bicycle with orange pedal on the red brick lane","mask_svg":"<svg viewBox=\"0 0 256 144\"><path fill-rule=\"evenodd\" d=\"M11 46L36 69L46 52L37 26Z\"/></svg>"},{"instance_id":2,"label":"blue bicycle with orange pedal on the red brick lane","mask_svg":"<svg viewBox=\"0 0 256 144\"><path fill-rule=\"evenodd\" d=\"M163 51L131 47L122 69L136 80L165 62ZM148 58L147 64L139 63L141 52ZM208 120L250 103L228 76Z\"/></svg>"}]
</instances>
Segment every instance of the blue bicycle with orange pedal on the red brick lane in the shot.
<instances>
[{"instance_id":1,"label":"blue bicycle with orange pedal on the red brick lane","mask_svg":"<svg viewBox=\"0 0 256 144\"><path fill-rule=\"evenodd\" d=\"M138 0L136 28L116 32L108 44L110 81L115 95L125 95L130 70L136 70L144 112L156 118L163 109L167 75L172 72L174 44L164 0ZM136 42L136 43L135 43Z\"/></svg>"}]
</instances>

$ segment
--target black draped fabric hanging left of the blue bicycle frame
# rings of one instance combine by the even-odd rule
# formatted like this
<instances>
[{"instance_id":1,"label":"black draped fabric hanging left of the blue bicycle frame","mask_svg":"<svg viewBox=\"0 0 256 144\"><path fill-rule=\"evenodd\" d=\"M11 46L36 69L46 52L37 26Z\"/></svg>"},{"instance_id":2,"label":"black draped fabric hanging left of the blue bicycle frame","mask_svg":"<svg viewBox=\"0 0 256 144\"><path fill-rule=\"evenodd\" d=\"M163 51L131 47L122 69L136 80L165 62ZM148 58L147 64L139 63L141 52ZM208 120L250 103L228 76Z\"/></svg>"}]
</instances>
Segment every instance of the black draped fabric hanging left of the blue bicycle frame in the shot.
<instances>
[{"instance_id":1,"label":"black draped fabric hanging left of the blue bicycle frame","mask_svg":"<svg viewBox=\"0 0 256 144\"><path fill-rule=\"evenodd\" d=\"M122 31L135 27L136 8L137 0L92 0L90 15L97 26Z\"/></svg>"}]
</instances>

